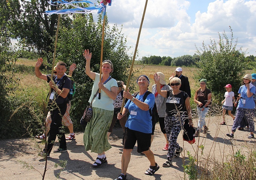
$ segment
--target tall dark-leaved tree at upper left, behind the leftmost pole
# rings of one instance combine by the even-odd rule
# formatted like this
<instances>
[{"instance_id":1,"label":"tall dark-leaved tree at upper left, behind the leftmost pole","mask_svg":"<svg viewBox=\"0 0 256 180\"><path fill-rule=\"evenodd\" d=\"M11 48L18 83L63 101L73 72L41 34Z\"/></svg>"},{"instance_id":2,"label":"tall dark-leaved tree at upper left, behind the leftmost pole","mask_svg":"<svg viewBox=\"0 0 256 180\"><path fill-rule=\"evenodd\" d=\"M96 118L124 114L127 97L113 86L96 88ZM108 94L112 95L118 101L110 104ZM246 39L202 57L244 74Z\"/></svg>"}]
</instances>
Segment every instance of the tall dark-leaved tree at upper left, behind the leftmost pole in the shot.
<instances>
[{"instance_id":1,"label":"tall dark-leaved tree at upper left, behind the leftmost pole","mask_svg":"<svg viewBox=\"0 0 256 180\"><path fill-rule=\"evenodd\" d=\"M22 13L17 12L18 18L13 24L12 32L15 38L21 39L26 44L27 49L37 50L41 56L46 56L50 63L53 58L58 15L47 16L43 12L57 10L59 6L50 6L47 1L22 0L20 9ZM61 17L63 24L69 27L72 22L70 16Z\"/></svg>"}]
</instances>

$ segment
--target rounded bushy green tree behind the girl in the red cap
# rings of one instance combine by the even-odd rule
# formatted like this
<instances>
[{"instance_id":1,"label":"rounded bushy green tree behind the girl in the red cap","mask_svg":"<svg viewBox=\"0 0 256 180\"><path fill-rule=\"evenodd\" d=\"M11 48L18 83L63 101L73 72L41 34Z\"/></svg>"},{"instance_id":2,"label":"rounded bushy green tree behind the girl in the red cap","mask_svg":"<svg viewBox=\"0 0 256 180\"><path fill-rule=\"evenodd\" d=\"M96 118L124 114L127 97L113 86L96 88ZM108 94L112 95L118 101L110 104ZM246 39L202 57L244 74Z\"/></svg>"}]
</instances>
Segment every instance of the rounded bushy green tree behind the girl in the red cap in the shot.
<instances>
[{"instance_id":1,"label":"rounded bushy green tree behind the girl in the red cap","mask_svg":"<svg viewBox=\"0 0 256 180\"><path fill-rule=\"evenodd\" d=\"M241 86L241 77L245 72L243 63L244 52L237 50L237 40L233 44L233 32L230 27L230 39L225 31L219 34L219 41L210 39L210 45L202 43L197 48L200 60L196 62L198 72L196 79L207 79L207 86L213 92L216 100L223 99L226 84L232 85L232 91L237 92Z\"/></svg>"}]
</instances>

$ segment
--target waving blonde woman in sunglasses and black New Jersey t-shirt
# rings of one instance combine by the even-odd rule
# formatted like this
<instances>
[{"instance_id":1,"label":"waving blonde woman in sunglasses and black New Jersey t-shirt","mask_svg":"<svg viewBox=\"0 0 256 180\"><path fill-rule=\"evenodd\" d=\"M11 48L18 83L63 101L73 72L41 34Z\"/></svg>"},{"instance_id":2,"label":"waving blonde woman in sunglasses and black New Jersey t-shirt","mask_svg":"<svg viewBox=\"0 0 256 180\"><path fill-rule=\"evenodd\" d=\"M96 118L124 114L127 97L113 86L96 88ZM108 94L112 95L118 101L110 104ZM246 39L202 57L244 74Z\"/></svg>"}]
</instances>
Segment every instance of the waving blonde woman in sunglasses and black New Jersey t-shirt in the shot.
<instances>
[{"instance_id":1,"label":"waving blonde woman in sunglasses and black New Jersey t-shirt","mask_svg":"<svg viewBox=\"0 0 256 180\"><path fill-rule=\"evenodd\" d=\"M163 163L163 167L168 168L172 165L173 157L177 158L183 151L183 148L177 143L177 138L184 120L189 119L189 125L193 126L191 118L191 109L189 96L186 92L179 90L181 87L181 80L174 77L170 80L172 90L161 90L160 77L154 74L157 82L157 92L159 95L167 98L166 100L166 116L165 116L165 130L167 139L169 141L169 148L167 153L167 161Z\"/></svg>"}]
</instances>

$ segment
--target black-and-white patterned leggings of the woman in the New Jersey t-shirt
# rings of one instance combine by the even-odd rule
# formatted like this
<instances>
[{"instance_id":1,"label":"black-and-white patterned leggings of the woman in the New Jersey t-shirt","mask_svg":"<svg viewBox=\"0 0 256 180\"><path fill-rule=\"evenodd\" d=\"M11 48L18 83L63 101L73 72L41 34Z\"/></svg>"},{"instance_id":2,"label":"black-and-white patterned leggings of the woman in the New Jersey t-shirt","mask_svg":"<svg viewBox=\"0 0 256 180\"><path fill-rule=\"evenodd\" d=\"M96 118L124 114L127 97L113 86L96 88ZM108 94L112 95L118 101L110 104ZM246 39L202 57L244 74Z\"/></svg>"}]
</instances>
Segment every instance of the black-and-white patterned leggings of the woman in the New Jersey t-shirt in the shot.
<instances>
[{"instance_id":1,"label":"black-and-white patterned leggings of the woman in the New Jersey t-shirt","mask_svg":"<svg viewBox=\"0 0 256 180\"><path fill-rule=\"evenodd\" d=\"M181 117L181 119L175 116L165 117L165 130L166 130L167 139L169 141L167 160L169 161L173 159L175 149L179 149L177 138L178 138L179 132L181 132L183 121L184 121L183 116Z\"/></svg>"}]
</instances>

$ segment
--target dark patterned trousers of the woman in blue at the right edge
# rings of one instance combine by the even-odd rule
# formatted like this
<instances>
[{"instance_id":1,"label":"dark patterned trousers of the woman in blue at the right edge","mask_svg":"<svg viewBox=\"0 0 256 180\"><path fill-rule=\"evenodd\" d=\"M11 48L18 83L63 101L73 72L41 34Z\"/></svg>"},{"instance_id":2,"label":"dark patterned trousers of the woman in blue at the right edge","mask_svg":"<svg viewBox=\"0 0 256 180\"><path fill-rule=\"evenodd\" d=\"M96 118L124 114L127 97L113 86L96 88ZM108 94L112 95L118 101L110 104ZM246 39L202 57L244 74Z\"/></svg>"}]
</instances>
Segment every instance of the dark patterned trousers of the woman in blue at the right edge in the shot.
<instances>
[{"instance_id":1,"label":"dark patterned trousers of the woman in blue at the right edge","mask_svg":"<svg viewBox=\"0 0 256 180\"><path fill-rule=\"evenodd\" d=\"M240 127L240 123L243 118L243 115L245 115L250 127L249 129L250 132L254 132L254 121L253 121L254 111L255 109L237 108L237 114L235 115L234 123L231 130L235 132L235 130L238 127Z\"/></svg>"}]
</instances>

